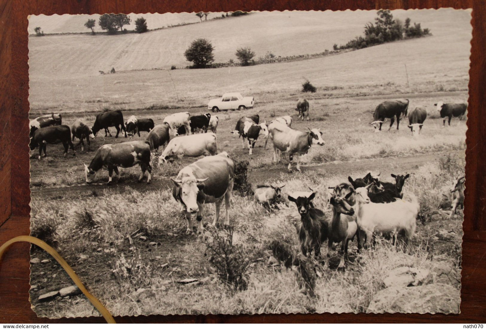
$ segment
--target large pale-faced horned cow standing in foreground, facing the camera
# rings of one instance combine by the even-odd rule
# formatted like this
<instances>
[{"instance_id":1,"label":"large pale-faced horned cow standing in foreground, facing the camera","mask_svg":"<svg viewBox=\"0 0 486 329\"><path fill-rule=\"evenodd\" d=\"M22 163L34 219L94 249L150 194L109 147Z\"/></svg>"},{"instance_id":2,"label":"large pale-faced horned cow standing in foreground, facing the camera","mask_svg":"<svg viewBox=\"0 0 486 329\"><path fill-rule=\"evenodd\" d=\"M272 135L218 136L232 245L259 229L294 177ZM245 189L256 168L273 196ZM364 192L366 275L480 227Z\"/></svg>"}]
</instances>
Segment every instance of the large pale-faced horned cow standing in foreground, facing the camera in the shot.
<instances>
[{"instance_id":1,"label":"large pale-faced horned cow standing in foreground, facing the camera","mask_svg":"<svg viewBox=\"0 0 486 329\"><path fill-rule=\"evenodd\" d=\"M225 199L226 218L225 226L229 226L229 206L235 165L228 153L208 156L185 166L179 171L177 177L171 178L174 182L172 195L180 206L180 211L187 219L187 234L193 234L191 214L197 213L197 231L203 231L203 212L206 203L214 203L215 212L212 226L218 224L219 211L223 198Z\"/></svg>"}]
</instances>

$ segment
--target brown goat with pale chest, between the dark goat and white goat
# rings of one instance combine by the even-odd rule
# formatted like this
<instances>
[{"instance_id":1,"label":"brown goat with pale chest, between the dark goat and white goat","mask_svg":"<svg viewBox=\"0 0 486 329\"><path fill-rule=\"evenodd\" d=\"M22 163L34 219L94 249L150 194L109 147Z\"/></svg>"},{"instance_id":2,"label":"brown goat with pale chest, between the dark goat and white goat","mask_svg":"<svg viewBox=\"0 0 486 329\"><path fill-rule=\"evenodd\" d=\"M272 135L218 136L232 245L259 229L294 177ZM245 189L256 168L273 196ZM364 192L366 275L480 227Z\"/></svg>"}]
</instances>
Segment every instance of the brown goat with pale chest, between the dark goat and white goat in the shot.
<instances>
[{"instance_id":1,"label":"brown goat with pale chest, between the dark goat and white goat","mask_svg":"<svg viewBox=\"0 0 486 329\"><path fill-rule=\"evenodd\" d=\"M339 185L336 186L336 188L339 188ZM348 201L348 198L351 198L352 195L353 191L350 191L344 197L333 196L329 200L330 204L332 205L332 220L328 229L328 253L326 258L327 265L329 265L332 244L341 243L342 256L338 268L345 267L344 259L347 256L347 244L349 240L354 239L354 236L358 230L356 221L349 220L347 217L354 215L354 209L349 205Z\"/></svg>"}]
</instances>

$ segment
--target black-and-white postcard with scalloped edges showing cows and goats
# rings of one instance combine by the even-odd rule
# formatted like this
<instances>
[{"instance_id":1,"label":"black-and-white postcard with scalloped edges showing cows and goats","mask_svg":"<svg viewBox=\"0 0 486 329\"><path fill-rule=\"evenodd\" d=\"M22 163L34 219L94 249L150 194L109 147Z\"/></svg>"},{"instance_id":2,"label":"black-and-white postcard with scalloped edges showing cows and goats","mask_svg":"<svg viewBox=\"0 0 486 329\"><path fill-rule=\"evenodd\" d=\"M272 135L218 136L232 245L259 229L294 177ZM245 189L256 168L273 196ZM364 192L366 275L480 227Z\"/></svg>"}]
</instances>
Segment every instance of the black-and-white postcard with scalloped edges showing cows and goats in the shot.
<instances>
[{"instance_id":1,"label":"black-and-white postcard with scalloped edges showing cows and goats","mask_svg":"<svg viewBox=\"0 0 486 329\"><path fill-rule=\"evenodd\" d=\"M32 235L113 315L459 313L470 19L30 16Z\"/></svg>"}]
</instances>

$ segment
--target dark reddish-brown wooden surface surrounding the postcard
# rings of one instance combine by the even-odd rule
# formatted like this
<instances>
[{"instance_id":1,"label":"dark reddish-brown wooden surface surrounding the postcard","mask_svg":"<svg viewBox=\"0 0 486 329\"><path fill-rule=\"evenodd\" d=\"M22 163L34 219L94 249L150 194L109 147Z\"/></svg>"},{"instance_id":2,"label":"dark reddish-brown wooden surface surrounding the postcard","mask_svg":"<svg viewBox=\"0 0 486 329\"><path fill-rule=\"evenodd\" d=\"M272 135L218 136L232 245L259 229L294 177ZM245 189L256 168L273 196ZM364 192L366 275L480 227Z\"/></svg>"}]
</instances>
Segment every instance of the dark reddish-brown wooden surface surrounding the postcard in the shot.
<instances>
[{"instance_id":1,"label":"dark reddish-brown wooden surface surrounding the postcard","mask_svg":"<svg viewBox=\"0 0 486 329\"><path fill-rule=\"evenodd\" d=\"M461 314L269 314L117 317L118 322L485 322L486 129L480 119L486 86L486 1L473 0L0 0L0 244L29 233L28 39L30 14L165 13L235 10L473 8L466 152ZM103 318L37 318L29 303L29 246L14 245L0 265L0 322L103 322Z\"/></svg>"}]
</instances>

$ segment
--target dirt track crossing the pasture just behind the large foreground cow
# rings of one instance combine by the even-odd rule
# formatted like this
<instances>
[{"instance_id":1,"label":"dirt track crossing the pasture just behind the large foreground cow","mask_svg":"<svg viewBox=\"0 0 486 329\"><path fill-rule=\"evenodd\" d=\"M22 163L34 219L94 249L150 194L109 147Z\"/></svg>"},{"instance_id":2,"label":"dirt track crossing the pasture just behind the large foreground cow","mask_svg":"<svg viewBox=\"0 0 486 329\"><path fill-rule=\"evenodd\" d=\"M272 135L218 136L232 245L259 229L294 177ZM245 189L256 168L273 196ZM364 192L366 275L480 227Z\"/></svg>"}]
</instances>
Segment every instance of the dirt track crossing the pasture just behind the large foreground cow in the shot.
<instances>
[{"instance_id":1,"label":"dirt track crossing the pasture just behind the large foreground cow","mask_svg":"<svg viewBox=\"0 0 486 329\"><path fill-rule=\"evenodd\" d=\"M463 151L455 151L457 154ZM428 162L434 162L441 155L450 152L437 152L418 154L408 157L390 157L360 161L349 162L335 162L322 165L303 165L302 172L314 172L325 176L345 175L351 173L365 173L367 171L381 172L382 177L388 177L390 173L405 173L413 172L415 168L424 165ZM249 174L251 182L261 183L264 181L272 181L276 179L290 179L293 173L287 172L285 165L275 165L271 168L253 169ZM104 189L122 192L126 187L136 189L137 191L156 191L159 189L167 189L172 187L172 182L169 179L153 180L150 184L144 182L122 182L116 181L112 185L102 183L91 185L73 185L66 187L35 187L31 188L31 194L35 197L42 198L77 198L81 196L91 196L94 191L96 193L103 193Z\"/></svg>"}]
</instances>

